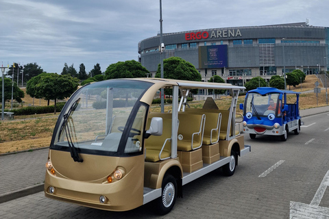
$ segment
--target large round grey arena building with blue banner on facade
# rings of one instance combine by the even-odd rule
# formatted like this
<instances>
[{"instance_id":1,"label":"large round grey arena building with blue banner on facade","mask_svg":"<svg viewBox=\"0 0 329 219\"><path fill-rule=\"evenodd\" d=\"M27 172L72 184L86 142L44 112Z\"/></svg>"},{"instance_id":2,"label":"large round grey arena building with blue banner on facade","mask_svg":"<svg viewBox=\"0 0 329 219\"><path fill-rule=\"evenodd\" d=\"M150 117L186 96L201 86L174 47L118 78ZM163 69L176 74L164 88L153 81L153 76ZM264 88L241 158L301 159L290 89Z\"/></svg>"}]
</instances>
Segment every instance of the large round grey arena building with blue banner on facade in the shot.
<instances>
[{"instance_id":1,"label":"large round grey arena building with blue banner on facade","mask_svg":"<svg viewBox=\"0 0 329 219\"><path fill-rule=\"evenodd\" d=\"M252 77L269 81L295 69L306 75L329 67L329 27L288 23L256 27L199 29L162 34L164 58L191 62L202 80L219 75L243 86ZM139 61L154 77L160 63L160 34L138 43Z\"/></svg>"}]
</instances>

